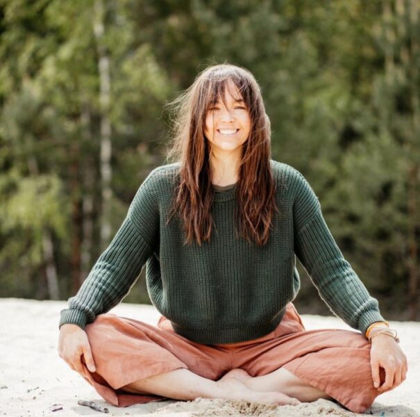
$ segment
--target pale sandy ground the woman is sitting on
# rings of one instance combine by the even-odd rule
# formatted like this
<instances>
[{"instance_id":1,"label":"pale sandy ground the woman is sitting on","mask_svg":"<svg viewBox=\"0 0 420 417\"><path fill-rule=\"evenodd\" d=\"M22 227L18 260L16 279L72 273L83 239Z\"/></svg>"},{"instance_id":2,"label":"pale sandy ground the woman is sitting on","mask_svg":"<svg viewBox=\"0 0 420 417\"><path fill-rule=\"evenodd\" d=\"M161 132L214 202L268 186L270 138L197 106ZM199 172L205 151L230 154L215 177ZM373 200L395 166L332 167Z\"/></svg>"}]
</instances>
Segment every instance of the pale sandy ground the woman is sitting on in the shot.
<instances>
[{"instance_id":1,"label":"pale sandy ground the woman is sitting on","mask_svg":"<svg viewBox=\"0 0 420 417\"><path fill-rule=\"evenodd\" d=\"M67 302L0 299L0 416L105 415L78 405L92 400L109 410L107 416L357 416L327 400L299 406L276 407L244 401L167 400L132 407L113 407L58 356L58 318ZM120 304L112 313L156 325L153 306ZM307 329L349 329L336 317L302 315ZM367 415L420 417L420 323L391 322L398 330L408 357L408 375L403 384L380 395ZM54 404L62 409L51 411Z\"/></svg>"}]
</instances>

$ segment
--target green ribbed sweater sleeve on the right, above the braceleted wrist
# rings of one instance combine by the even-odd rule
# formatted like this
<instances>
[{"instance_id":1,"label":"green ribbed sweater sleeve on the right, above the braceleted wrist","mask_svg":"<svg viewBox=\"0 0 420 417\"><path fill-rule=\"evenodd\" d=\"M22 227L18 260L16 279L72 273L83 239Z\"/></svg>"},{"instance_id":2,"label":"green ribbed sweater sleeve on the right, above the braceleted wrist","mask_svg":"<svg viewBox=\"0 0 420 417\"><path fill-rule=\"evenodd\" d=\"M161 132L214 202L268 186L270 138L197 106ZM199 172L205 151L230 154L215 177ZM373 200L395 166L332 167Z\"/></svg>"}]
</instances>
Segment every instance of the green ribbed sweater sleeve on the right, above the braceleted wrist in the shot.
<instances>
[{"instance_id":1,"label":"green ribbed sweater sleeve on the right, above the braceleted wrist","mask_svg":"<svg viewBox=\"0 0 420 417\"><path fill-rule=\"evenodd\" d=\"M308 181L297 170L294 180L294 252L330 310L365 334L371 323L384 321L378 301L344 259Z\"/></svg>"}]
</instances>

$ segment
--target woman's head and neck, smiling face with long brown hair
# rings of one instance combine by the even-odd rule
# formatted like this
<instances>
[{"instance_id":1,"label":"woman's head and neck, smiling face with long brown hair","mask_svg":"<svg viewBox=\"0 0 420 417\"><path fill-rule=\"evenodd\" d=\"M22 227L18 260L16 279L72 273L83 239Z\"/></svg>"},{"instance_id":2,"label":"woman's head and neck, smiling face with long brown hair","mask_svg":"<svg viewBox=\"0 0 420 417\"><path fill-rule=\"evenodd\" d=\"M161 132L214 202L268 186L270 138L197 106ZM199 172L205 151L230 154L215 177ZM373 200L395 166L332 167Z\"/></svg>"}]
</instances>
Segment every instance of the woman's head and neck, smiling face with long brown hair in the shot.
<instances>
[{"instance_id":1,"label":"woman's head and neck, smiling face with long brown hair","mask_svg":"<svg viewBox=\"0 0 420 417\"><path fill-rule=\"evenodd\" d=\"M214 65L170 105L177 122L169 158L183 161L170 217L183 219L186 241L210 238L212 186L237 183L238 232L264 245L278 206L270 122L254 76L235 65Z\"/></svg>"}]
</instances>

